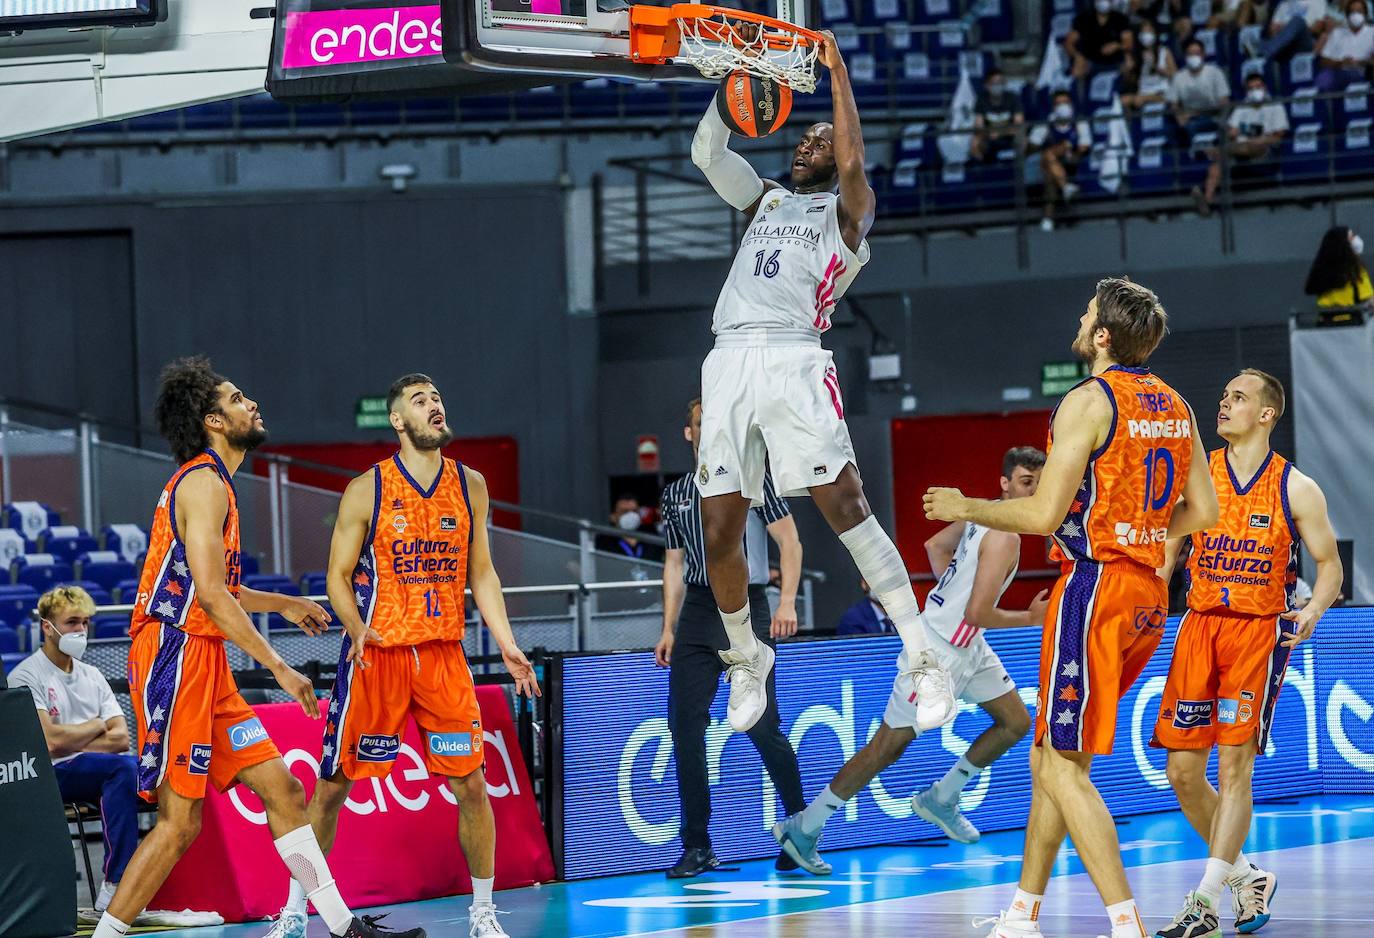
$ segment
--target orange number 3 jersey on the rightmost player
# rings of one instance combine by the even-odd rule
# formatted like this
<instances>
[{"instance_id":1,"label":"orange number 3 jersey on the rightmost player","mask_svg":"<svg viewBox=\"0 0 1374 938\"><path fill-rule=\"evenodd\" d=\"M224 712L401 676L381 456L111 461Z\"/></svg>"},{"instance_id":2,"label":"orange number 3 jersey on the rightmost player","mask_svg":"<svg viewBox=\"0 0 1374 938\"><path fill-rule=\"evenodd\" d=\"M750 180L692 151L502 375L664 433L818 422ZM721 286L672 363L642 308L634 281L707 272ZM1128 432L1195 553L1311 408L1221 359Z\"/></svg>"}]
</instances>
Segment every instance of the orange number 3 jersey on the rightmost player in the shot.
<instances>
[{"instance_id":1,"label":"orange number 3 jersey on the rightmost player","mask_svg":"<svg viewBox=\"0 0 1374 938\"><path fill-rule=\"evenodd\" d=\"M1221 505L1215 527L1193 536L1189 556L1189 608L1278 615L1292 604L1300 538L1287 500L1293 464L1270 452L1241 485L1226 448L1208 457Z\"/></svg>"}]
</instances>

